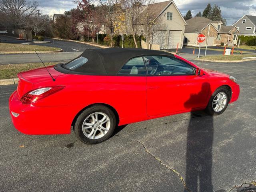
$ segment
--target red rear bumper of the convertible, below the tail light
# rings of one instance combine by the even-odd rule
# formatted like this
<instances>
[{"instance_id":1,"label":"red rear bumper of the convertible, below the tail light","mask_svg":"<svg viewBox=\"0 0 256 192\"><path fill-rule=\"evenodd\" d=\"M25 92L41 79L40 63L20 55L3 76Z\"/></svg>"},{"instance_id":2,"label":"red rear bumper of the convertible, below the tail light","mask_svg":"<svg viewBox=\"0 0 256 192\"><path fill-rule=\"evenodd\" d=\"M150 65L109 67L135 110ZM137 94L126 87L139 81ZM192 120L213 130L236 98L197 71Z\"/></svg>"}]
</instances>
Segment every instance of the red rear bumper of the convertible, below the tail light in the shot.
<instances>
[{"instance_id":1,"label":"red rear bumper of the convertible, below the tail light","mask_svg":"<svg viewBox=\"0 0 256 192\"><path fill-rule=\"evenodd\" d=\"M15 128L24 134L70 134L72 121L79 111L74 106L22 104L17 91L10 96L9 109ZM11 112L19 115L15 117Z\"/></svg>"}]
</instances>

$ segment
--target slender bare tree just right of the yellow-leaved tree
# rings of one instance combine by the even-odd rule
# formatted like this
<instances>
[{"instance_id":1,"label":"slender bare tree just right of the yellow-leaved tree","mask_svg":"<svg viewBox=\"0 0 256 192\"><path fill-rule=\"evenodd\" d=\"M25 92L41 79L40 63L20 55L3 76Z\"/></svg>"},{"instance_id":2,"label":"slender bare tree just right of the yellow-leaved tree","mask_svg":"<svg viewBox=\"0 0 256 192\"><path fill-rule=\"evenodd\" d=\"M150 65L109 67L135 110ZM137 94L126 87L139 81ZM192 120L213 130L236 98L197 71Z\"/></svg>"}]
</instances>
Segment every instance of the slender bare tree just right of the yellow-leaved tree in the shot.
<instances>
[{"instance_id":1,"label":"slender bare tree just right of the yellow-leaved tree","mask_svg":"<svg viewBox=\"0 0 256 192\"><path fill-rule=\"evenodd\" d=\"M136 34L138 31L138 19L141 12L141 7L146 3L146 0L122 0L122 6L125 8L127 26L131 30L134 44L138 48Z\"/></svg>"}]
</instances>

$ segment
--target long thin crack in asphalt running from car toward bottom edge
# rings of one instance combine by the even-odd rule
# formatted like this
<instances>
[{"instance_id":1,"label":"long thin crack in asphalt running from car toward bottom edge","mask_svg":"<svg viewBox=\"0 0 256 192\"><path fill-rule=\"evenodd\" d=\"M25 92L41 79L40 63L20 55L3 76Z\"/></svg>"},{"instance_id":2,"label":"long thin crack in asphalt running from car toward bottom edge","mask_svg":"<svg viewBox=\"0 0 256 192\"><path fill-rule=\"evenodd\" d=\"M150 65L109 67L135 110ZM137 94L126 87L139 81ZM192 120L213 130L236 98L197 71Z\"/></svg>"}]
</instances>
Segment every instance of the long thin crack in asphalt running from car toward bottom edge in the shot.
<instances>
[{"instance_id":1,"label":"long thin crack in asphalt running from car toward bottom edge","mask_svg":"<svg viewBox=\"0 0 256 192\"><path fill-rule=\"evenodd\" d=\"M158 158L157 156L155 156L154 154L152 154L152 153L148 150L148 148L146 148L146 146L145 146L142 142L140 142L139 140L134 140L134 139L131 139L131 138L129 138L129 137L122 136L122 135L118 135L118 136L121 136L121 137L123 137L123 138L130 139L130 140L132 140L132 141L138 142L138 143L145 149L145 151L146 151L148 154L150 154L152 157L154 157L161 165L165 166L166 168L168 168L169 170L171 170L172 172L174 172L174 173L180 178L180 180L181 180L181 182L182 182L184 188L185 188L188 192L192 192L192 191L188 188L188 186L186 185L186 182L185 182L185 180L183 179L183 177L181 176L181 174L180 174L178 171L176 171L175 169L171 168L170 166L164 164L164 162L163 162L160 158Z\"/></svg>"}]
</instances>

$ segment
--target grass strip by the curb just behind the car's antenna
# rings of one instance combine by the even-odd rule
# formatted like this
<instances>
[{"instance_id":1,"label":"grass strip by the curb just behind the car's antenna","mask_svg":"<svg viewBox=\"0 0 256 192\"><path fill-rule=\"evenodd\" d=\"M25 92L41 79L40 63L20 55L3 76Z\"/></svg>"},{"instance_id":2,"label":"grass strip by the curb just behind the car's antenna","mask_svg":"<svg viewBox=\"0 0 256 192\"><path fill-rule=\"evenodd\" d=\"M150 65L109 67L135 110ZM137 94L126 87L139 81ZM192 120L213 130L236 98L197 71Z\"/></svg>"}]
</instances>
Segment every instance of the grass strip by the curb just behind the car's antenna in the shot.
<instances>
[{"instance_id":1,"label":"grass strip by the curb just behind the car's antenna","mask_svg":"<svg viewBox=\"0 0 256 192\"><path fill-rule=\"evenodd\" d=\"M44 63L46 66L56 65L57 63ZM42 63L26 63L26 64L9 64L0 65L0 79L17 78L17 74L36 68L42 68Z\"/></svg>"}]
</instances>

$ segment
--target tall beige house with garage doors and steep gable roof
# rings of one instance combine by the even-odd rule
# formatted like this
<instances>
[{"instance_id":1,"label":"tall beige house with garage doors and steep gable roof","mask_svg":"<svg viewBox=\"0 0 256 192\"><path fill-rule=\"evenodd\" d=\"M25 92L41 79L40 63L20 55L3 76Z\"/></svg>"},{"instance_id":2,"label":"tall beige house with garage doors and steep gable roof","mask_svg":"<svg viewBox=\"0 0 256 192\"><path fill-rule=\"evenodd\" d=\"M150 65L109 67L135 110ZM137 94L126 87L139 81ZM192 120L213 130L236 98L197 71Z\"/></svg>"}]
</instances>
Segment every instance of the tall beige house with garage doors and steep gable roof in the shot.
<instances>
[{"instance_id":1,"label":"tall beige house with garage doors and steep gable roof","mask_svg":"<svg viewBox=\"0 0 256 192\"><path fill-rule=\"evenodd\" d=\"M155 26L152 31L150 44L159 45L162 50L174 49L177 48L177 45L178 48L182 48L186 21L174 1L169 0L142 6L140 10L142 15L146 7L150 9L150 14L156 18L155 20L160 20L160 24ZM138 28L142 28L142 25L138 23ZM129 26L128 23L125 26ZM119 33L132 34L126 27L122 28Z\"/></svg>"}]
</instances>

